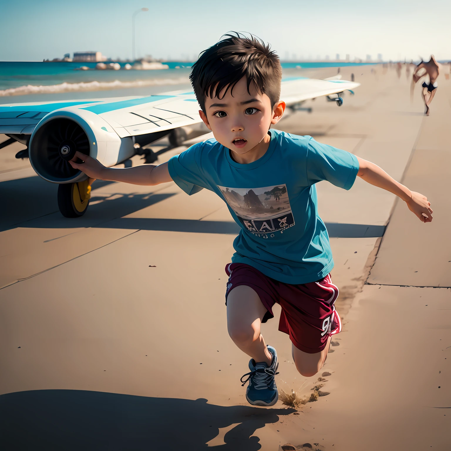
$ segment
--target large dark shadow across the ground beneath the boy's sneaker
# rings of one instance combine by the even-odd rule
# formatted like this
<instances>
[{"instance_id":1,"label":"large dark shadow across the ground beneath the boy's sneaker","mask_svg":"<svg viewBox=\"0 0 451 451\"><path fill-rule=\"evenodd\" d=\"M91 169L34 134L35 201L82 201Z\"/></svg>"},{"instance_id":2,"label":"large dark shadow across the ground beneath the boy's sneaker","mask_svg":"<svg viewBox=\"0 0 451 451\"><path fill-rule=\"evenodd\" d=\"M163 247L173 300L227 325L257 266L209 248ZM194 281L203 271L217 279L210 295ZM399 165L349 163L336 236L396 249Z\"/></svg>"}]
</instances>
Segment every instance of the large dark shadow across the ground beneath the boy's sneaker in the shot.
<instances>
[{"instance_id":1,"label":"large dark shadow across the ground beneath the boy's sneaker","mask_svg":"<svg viewBox=\"0 0 451 451\"><path fill-rule=\"evenodd\" d=\"M36 390L0 396L5 450L200 450L219 428L221 450L259 450L253 436L293 409L222 407L207 400L150 398L99 391Z\"/></svg>"}]
</instances>

